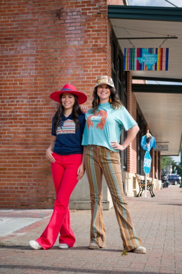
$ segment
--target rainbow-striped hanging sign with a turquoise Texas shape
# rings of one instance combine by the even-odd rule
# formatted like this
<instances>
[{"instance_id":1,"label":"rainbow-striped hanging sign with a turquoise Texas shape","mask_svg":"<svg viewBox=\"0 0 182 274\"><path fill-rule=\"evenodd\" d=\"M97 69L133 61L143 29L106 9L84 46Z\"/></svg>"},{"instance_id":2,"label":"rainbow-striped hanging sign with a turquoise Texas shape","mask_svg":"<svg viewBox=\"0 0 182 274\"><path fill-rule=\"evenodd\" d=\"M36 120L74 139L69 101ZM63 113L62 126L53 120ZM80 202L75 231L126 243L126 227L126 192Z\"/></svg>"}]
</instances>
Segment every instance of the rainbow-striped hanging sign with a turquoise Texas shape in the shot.
<instances>
[{"instance_id":1,"label":"rainbow-striped hanging sign with a turquoise Texas shape","mask_svg":"<svg viewBox=\"0 0 182 274\"><path fill-rule=\"evenodd\" d=\"M169 48L125 48L124 71L167 71Z\"/></svg>"}]
</instances>

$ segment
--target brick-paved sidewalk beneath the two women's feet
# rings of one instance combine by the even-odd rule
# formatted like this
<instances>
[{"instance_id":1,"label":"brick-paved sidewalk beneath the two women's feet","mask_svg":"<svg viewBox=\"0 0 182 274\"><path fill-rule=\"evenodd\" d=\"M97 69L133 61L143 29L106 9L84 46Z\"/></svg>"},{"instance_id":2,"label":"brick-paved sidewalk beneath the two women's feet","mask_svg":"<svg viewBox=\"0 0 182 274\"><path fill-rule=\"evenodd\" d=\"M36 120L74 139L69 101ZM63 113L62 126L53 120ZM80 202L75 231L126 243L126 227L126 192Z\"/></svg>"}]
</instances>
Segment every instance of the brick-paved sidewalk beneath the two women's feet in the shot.
<instances>
[{"instance_id":1,"label":"brick-paved sidewalk beneath the two women's feet","mask_svg":"<svg viewBox=\"0 0 182 274\"><path fill-rule=\"evenodd\" d=\"M52 210L0 210L3 218L32 218L32 224L0 237L0 274L182 274L182 188L154 190L154 198L127 198L136 231L147 254L122 254L114 209L104 211L107 248L89 250L90 210L71 211L73 248L32 250ZM148 196L150 196L148 194ZM38 220L36 220L38 219Z\"/></svg>"}]
</instances>

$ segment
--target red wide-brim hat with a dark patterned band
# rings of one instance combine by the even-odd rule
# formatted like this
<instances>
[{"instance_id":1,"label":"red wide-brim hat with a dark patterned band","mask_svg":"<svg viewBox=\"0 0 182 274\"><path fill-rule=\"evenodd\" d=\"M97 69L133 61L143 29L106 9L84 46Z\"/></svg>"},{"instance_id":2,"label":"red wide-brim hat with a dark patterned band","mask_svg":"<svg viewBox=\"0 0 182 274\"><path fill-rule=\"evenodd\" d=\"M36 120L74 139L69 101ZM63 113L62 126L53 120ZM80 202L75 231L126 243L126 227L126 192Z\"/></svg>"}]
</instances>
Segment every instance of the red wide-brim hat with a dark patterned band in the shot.
<instances>
[{"instance_id":1,"label":"red wide-brim hat with a dark patterned band","mask_svg":"<svg viewBox=\"0 0 182 274\"><path fill-rule=\"evenodd\" d=\"M70 84L64 85L61 91L54 91L50 94L50 98L60 103L60 95L62 93L71 93L78 97L78 103L83 104L87 100L87 95L81 91L77 91L76 87Z\"/></svg>"}]
</instances>

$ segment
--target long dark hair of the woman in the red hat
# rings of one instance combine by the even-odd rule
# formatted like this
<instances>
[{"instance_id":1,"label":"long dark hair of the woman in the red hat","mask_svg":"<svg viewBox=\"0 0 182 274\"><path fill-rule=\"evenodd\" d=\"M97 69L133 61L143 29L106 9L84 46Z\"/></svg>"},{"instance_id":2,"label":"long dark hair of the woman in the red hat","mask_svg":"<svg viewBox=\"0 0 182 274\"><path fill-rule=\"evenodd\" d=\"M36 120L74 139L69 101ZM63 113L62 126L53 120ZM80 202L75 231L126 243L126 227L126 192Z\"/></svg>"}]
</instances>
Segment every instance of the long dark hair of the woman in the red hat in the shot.
<instances>
[{"instance_id":1,"label":"long dark hair of the woman in the red hat","mask_svg":"<svg viewBox=\"0 0 182 274\"><path fill-rule=\"evenodd\" d=\"M57 110L57 112L55 113L55 116L54 116L54 118L55 118L55 123L54 123L55 132L56 132L61 120L62 120L62 114L63 114L63 111L64 111L64 108L63 108L62 102L61 102L62 94L60 95L60 104L58 106L58 110ZM71 116L72 116L72 118L75 122L76 130L78 130L79 129L78 116L82 112L81 112L81 109L80 109L79 104L78 104L78 97L75 94L72 94L72 95L74 96L74 104L73 104L73 109L72 109L72 112L71 112Z\"/></svg>"}]
</instances>

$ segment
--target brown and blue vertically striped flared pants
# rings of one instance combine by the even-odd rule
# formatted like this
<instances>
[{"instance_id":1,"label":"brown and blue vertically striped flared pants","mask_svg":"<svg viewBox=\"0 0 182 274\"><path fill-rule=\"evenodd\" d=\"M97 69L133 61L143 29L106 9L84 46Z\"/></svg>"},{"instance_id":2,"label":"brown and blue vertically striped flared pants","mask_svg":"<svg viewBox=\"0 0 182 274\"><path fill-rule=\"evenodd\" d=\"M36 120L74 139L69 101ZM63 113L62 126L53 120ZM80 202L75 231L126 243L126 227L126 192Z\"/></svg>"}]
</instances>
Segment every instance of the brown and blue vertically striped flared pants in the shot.
<instances>
[{"instance_id":1,"label":"brown and blue vertically striped flared pants","mask_svg":"<svg viewBox=\"0 0 182 274\"><path fill-rule=\"evenodd\" d=\"M124 249L130 251L143 246L132 224L123 194L120 153L102 146L88 145L86 173L91 198L90 242L105 247L106 229L102 209L102 177L104 175L112 196Z\"/></svg>"}]
</instances>

